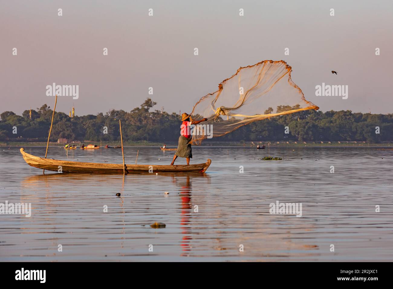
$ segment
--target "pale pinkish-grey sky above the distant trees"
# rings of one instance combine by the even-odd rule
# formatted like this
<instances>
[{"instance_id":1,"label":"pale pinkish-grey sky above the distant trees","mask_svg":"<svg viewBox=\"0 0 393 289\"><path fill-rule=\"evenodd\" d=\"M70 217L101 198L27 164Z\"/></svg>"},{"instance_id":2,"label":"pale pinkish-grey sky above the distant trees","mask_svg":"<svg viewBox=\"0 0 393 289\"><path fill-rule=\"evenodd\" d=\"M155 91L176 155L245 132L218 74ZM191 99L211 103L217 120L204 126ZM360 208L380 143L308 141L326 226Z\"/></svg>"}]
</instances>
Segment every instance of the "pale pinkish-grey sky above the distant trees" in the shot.
<instances>
[{"instance_id":1,"label":"pale pinkish-grey sky above the distant trees","mask_svg":"<svg viewBox=\"0 0 393 289\"><path fill-rule=\"evenodd\" d=\"M392 36L391 0L0 0L0 112L53 107L53 82L79 85L79 99L58 98L67 114L130 111L147 97L191 112L240 66L271 59L292 66L322 111L392 113ZM348 85L348 99L316 96L323 82Z\"/></svg>"}]
</instances>

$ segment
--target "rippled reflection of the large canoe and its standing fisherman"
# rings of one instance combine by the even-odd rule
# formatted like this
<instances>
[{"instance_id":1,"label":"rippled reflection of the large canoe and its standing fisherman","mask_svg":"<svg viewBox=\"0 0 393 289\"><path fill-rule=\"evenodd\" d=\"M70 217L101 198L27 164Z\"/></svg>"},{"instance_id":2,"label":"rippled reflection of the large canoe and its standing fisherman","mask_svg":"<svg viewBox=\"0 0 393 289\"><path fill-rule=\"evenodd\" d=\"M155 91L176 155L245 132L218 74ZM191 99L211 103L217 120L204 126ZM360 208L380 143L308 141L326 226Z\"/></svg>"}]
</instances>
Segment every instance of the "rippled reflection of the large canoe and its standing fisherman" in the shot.
<instances>
[{"instance_id":1,"label":"rippled reflection of the large canoe and its standing fisherman","mask_svg":"<svg viewBox=\"0 0 393 289\"><path fill-rule=\"evenodd\" d=\"M95 205L91 207L86 207L84 202L86 198L90 199L94 204L112 204L118 206L116 212L118 212L116 223L110 223L107 226L112 229L120 229L119 231L114 231L121 234L119 247L123 249L125 247L124 241L126 239L126 232L128 226L135 225L135 220L130 219L130 210L138 206L138 200L127 197L130 189L135 185L143 186L144 188L149 188L151 191L156 191L156 187L162 186L164 183L172 183L176 191L179 192L180 198L175 201L176 212L180 212L180 218L176 217L176 223L179 222L180 225L180 246L181 254L180 256L189 256L193 248L193 224L192 218L195 218L197 214L193 212L196 210L195 204L193 204L192 196L192 185L196 187L196 191L200 188L200 183L205 186L211 184L211 177L204 174L190 174L190 173L166 173L160 175L151 175L152 179L149 179L147 175L95 175L95 174L68 174L68 173L47 173L32 175L22 179L22 190L24 193L21 195L21 199L24 202L30 202L33 204L37 217L39 217L38 212L44 213L46 217L46 222L51 224L51 229L53 232L61 229L64 225L64 221L57 218L57 212L59 208L64 206L66 202L67 206L72 206L70 212L72 214L77 214L80 216L86 216L87 214L93 214L92 212L96 210ZM114 194L116 192L121 193L121 196L116 198ZM194 190L195 192L195 190ZM114 202L108 201L108 195L113 196L116 200ZM174 196L178 198L177 196ZM115 199L116 198L116 199ZM125 203L125 198L128 203ZM194 202L200 203L202 195L195 194ZM131 202L130 202L131 200ZM110 205L109 205L110 206ZM152 208L148 206L148 208ZM87 210L87 211L86 211ZM101 210L101 209L100 209ZM75 213L76 212L76 213ZM97 211L98 212L98 211ZM141 214L149 215L150 211L141 211ZM128 217L127 217L128 215ZM96 220L97 215L93 214ZM101 216L100 216L101 217ZM29 219L29 221L34 221L34 216ZM106 219L106 218L105 218ZM105 219L102 222L105 223ZM143 220L143 218L142 218ZM85 219L86 222L91 222L89 215ZM113 222L113 221L111 221ZM143 224L144 221L141 221ZM178 223L178 224L179 224ZM113 226L113 227L112 227ZM31 228L31 230L34 230ZM38 231L36 231L38 232ZM178 242L176 242L178 244ZM54 244L56 245L56 244ZM195 246L194 246L195 247ZM123 256L123 254L121 254Z\"/></svg>"}]
</instances>

